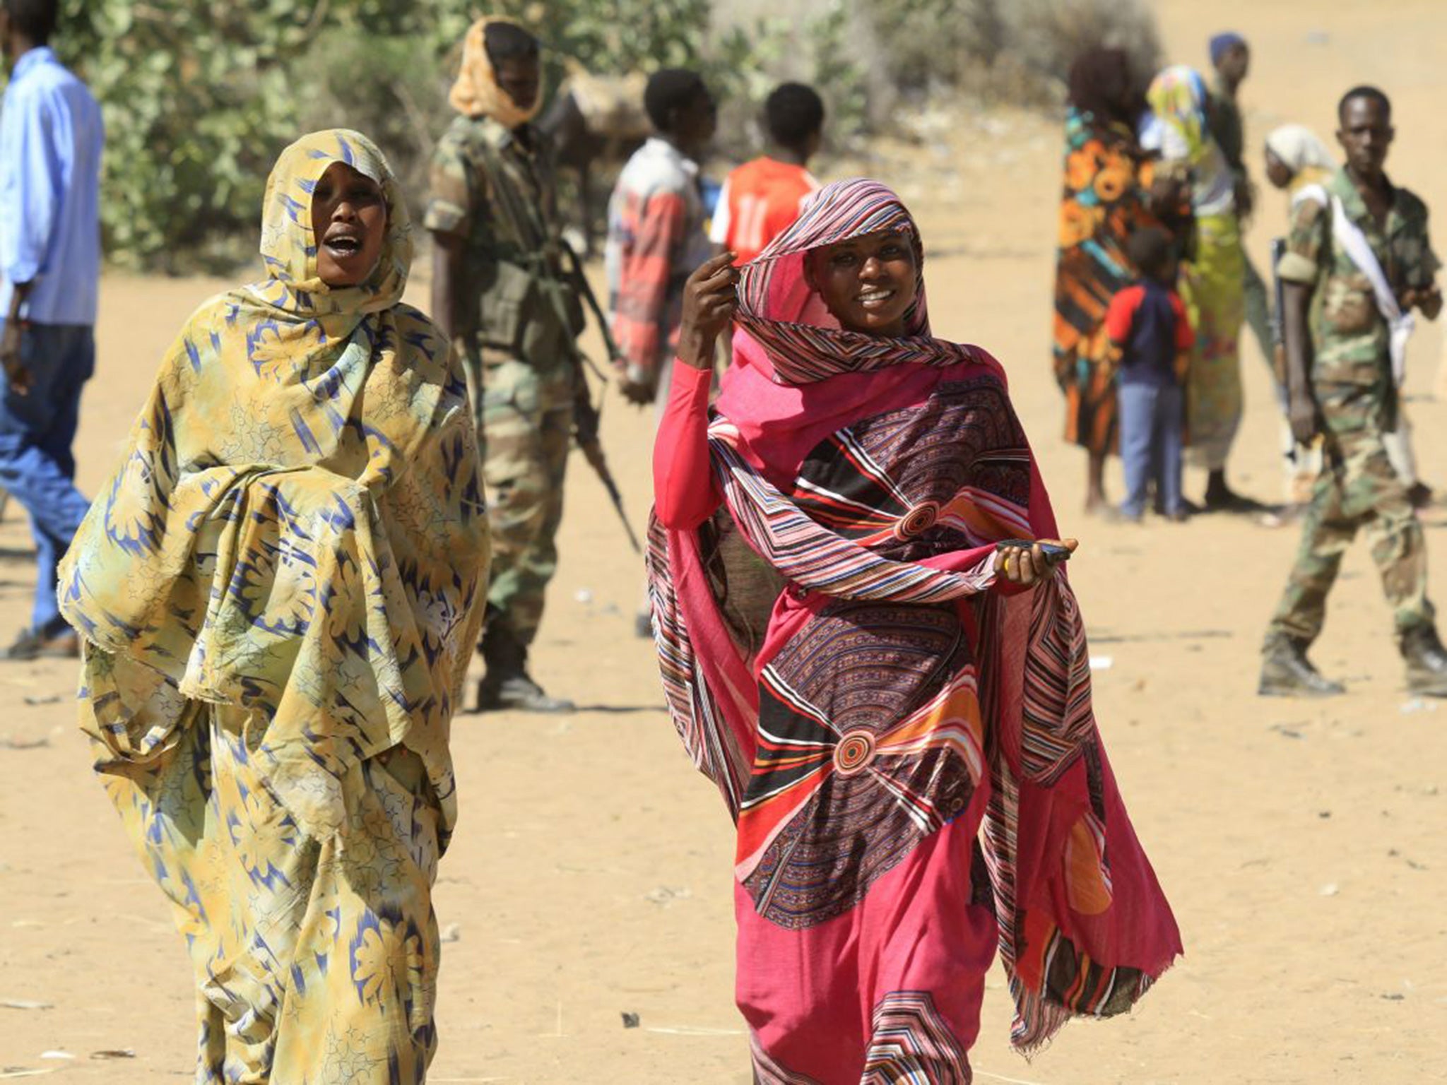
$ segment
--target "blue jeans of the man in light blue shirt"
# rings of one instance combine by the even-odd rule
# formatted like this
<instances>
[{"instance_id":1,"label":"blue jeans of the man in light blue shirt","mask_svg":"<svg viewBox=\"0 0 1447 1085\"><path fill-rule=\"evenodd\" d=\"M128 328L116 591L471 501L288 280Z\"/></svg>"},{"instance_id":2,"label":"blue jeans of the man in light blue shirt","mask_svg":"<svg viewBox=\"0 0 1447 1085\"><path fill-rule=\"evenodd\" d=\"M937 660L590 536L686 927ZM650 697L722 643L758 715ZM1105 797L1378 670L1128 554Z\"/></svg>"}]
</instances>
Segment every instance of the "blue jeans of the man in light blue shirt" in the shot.
<instances>
[{"instance_id":1,"label":"blue jeans of the man in light blue shirt","mask_svg":"<svg viewBox=\"0 0 1447 1085\"><path fill-rule=\"evenodd\" d=\"M65 631L55 603L55 567L90 509L75 489L71 443L81 388L96 372L96 337L88 324L32 324L20 336L20 360L30 372L30 392L16 395L4 380L0 486L30 515L36 564L30 625L55 637Z\"/></svg>"}]
</instances>

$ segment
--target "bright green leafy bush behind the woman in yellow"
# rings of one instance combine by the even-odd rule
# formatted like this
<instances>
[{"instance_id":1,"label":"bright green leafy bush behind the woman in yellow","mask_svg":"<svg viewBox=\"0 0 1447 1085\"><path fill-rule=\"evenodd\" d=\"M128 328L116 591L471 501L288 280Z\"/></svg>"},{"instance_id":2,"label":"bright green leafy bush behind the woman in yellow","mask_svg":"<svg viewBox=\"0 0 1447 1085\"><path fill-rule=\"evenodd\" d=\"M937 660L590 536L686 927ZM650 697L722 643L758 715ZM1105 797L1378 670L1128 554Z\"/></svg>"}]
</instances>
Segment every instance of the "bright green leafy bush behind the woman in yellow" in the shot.
<instances>
[{"instance_id":1,"label":"bright green leafy bush behind the woman in yellow","mask_svg":"<svg viewBox=\"0 0 1447 1085\"><path fill-rule=\"evenodd\" d=\"M699 64L709 0L501 0L592 71ZM245 258L266 174L301 132L378 139L410 191L447 120L469 0L62 0L54 42L106 116L111 260L182 271Z\"/></svg>"}]
</instances>

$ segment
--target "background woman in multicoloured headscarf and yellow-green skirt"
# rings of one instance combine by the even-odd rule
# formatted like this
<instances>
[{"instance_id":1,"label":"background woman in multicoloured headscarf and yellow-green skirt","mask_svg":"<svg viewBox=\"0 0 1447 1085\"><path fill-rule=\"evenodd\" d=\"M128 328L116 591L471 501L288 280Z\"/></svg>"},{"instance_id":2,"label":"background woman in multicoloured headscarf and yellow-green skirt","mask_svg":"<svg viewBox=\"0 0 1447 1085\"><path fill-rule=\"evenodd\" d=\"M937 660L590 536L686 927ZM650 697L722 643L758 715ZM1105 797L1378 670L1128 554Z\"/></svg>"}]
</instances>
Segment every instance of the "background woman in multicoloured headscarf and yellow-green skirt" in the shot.
<instances>
[{"instance_id":1,"label":"background woman in multicoloured headscarf and yellow-green skirt","mask_svg":"<svg viewBox=\"0 0 1447 1085\"><path fill-rule=\"evenodd\" d=\"M1150 82L1146 100L1158 122L1162 168L1191 185L1195 239L1182 266L1181 297L1195 328L1187 378L1187 456L1207 470L1207 511L1259 508L1226 482L1226 461L1242 422L1240 333L1243 282L1236 175L1207 126L1201 75L1175 65Z\"/></svg>"}]
</instances>

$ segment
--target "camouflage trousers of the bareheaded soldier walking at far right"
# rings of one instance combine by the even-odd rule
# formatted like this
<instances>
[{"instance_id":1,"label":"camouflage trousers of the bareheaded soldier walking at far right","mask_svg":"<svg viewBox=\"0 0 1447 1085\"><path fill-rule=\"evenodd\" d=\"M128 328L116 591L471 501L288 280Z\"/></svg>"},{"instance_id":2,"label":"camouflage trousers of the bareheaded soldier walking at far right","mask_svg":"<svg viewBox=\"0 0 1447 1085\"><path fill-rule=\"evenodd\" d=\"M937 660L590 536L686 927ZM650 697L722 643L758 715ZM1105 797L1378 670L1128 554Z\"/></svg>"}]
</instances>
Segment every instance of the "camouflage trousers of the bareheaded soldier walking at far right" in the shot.
<instances>
[{"instance_id":1,"label":"camouflage trousers of the bareheaded soldier walking at far right","mask_svg":"<svg viewBox=\"0 0 1447 1085\"><path fill-rule=\"evenodd\" d=\"M1311 492L1301 548L1272 615L1268 642L1281 635L1304 644L1317 638L1341 556L1359 528L1370 541L1398 634L1431 625L1427 544L1383 444L1380 393L1356 385L1328 385L1317 388L1317 401L1327 424L1327 463Z\"/></svg>"}]
</instances>

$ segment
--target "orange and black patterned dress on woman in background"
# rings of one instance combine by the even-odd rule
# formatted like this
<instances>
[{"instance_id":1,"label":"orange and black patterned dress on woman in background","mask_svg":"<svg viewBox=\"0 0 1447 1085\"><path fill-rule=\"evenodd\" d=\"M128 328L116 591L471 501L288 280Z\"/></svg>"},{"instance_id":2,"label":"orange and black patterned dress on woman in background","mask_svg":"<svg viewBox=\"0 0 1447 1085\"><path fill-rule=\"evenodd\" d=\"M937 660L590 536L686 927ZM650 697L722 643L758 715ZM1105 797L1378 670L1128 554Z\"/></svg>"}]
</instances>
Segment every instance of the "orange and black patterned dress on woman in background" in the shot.
<instances>
[{"instance_id":1,"label":"orange and black patterned dress on woman in background","mask_svg":"<svg viewBox=\"0 0 1447 1085\"><path fill-rule=\"evenodd\" d=\"M1072 109L1065 119L1065 188L1055 263L1055 379L1065 391L1065 440L1116 450L1116 365L1106 310L1134 282L1126 237L1153 220L1129 129Z\"/></svg>"}]
</instances>

